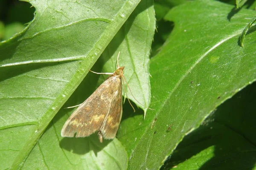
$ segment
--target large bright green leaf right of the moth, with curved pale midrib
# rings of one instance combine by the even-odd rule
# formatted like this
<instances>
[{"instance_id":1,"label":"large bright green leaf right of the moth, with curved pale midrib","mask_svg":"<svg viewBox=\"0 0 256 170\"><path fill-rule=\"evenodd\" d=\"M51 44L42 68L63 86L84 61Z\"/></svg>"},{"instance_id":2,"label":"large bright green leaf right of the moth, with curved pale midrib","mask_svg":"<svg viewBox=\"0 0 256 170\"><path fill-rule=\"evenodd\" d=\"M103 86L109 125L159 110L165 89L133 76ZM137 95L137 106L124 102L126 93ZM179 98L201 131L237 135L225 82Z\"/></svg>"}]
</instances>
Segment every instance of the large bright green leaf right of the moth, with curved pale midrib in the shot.
<instances>
[{"instance_id":1,"label":"large bright green leaf right of the moth, with curved pale midrib","mask_svg":"<svg viewBox=\"0 0 256 170\"><path fill-rule=\"evenodd\" d=\"M255 11L212 0L187 2L165 17L175 28L151 59L151 106L145 121L127 116L119 140L127 148L128 169L157 169L188 133L222 102L255 81L255 32L248 45L239 34ZM124 113L126 115L128 113ZM129 127L129 128L128 128Z\"/></svg>"}]
</instances>

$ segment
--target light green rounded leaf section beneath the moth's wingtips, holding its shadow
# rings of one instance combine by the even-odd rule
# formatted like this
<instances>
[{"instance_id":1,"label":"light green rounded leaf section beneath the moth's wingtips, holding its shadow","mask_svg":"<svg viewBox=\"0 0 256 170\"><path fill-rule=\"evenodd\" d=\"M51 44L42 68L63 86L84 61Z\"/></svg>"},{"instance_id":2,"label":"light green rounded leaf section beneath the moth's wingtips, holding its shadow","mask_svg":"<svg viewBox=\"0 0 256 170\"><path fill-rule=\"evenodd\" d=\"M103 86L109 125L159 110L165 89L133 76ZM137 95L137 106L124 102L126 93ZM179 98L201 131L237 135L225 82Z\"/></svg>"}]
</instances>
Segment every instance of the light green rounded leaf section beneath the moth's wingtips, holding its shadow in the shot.
<instances>
[{"instance_id":1,"label":"light green rounded leaf section beneath the moth's wingtips, holding its shadow","mask_svg":"<svg viewBox=\"0 0 256 170\"><path fill-rule=\"evenodd\" d=\"M62 109L55 116L32 149L23 169L125 170L127 154L117 139L100 143L97 134L86 138L61 137L61 128L69 116L63 116L66 110Z\"/></svg>"}]
</instances>

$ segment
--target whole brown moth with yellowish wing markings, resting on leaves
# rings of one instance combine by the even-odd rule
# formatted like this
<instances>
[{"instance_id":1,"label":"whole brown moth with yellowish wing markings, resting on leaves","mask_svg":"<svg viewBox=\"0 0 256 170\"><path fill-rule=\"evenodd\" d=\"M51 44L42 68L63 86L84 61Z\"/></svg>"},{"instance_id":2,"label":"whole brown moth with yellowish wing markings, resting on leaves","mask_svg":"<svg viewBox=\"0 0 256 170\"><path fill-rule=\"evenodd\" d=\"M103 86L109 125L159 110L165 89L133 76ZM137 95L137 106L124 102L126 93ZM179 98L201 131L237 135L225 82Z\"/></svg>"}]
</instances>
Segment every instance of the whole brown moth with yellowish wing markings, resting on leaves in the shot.
<instances>
[{"instance_id":1,"label":"whole brown moth with yellowish wing markings, resting on leaves","mask_svg":"<svg viewBox=\"0 0 256 170\"><path fill-rule=\"evenodd\" d=\"M119 52L120 54L120 52ZM98 131L102 139L114 139L122 118L122 77L125 67L119 67L67 119L62 137L86 137ZM71 107L70 107L71 108Z\"/></svg>"}]
</instances>

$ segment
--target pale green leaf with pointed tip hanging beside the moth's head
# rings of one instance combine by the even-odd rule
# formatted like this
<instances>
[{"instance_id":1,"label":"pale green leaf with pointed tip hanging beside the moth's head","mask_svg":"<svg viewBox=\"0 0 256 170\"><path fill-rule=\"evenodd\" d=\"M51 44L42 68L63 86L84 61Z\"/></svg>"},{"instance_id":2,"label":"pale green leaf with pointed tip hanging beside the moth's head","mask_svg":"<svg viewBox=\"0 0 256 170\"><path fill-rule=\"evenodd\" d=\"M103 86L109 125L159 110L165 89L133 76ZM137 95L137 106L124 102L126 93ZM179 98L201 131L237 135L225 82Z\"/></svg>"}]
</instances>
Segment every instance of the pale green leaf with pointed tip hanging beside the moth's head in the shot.
<instances>
[{"instance_id":1,"label":"pale green leaf with pointed tip hanging beside the moth's head","mask_svg":"<svg viewBox=\"0 0 256 170\"><path fill-rule=\"evenodd\" d=\"M143 108L144 113L151 99L149 55L154 31L153 3L151 0L143 0L102 53L103 60L105 59L102 72L108 72L108 68L115 70L116 56L118 51L121 51L119 65L125 66L124 72L129 87L136 87L131 88L131 91L126 87L127 96ZM107 61L106 58L110 56L113 58ZM126 82L123 84L126 85ZM125 90L123 94L125 95Z\"/></svg>"}]
</instances>

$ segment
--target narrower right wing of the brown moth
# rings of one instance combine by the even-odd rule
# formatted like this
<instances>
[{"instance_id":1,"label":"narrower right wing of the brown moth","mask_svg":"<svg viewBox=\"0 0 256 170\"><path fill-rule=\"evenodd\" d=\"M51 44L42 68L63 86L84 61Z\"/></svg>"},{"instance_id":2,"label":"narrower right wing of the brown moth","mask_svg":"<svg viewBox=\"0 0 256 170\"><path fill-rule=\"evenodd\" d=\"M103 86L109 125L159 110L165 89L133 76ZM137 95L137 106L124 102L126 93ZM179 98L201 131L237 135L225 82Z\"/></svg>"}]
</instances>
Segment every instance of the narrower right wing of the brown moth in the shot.
<instances>
[{"instance_id":1,"label":"narrower right wing of the brown moth","mask_svg":"<svg viewBox=\"0 0 256 170\"><path fill-rule=\"evenodd\" d=\"M116 136L120 121L122 118L122 80L120 79L120 84L118 91L113 96L111 101L110 109L106 115L100 132L105 139L113 139Z\"/></svg>"}]
</instances>

